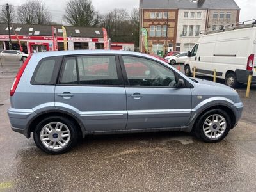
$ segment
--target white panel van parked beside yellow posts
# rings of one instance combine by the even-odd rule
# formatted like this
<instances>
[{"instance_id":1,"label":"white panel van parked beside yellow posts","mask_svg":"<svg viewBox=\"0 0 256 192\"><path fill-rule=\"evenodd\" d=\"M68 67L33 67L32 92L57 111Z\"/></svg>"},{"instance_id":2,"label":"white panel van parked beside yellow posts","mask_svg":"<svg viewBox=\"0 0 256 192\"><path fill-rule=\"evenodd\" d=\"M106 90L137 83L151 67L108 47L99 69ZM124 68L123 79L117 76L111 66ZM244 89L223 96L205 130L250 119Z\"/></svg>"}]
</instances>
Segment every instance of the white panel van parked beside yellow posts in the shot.
<instances>
[{"instance_id":1,"label":"white panel van parked beside yellow posts","mask_svg":"<svg viewBox=\"0 0 256 192\"><path fill-rule=\"evenodd\" d=\"M219 31L205 31L191 51L184 65L186 76L196 74L225 79L230 87L247 83L253 74L256 83L256 20L250 24L234 24L235 27Z\"/></svg>"}]
</instances>

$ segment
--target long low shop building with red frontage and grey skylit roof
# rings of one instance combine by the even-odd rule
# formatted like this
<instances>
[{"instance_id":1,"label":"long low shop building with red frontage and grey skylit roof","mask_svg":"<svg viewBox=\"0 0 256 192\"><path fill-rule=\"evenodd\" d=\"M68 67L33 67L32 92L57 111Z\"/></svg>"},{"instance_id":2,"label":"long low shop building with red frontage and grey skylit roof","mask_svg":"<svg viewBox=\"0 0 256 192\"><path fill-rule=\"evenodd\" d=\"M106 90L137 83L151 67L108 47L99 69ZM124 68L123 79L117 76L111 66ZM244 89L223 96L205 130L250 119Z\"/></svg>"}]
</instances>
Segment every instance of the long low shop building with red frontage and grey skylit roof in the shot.
<instances>
[{"instance_id":1,"label":"long low shop building with red frontage and grey skylit roof","mask_svg":"<svg viewBox=\"0 0 256 192\"><path fill-rule=\"evenodd\" d=\"M58 31L58 50L64 49L62 26L54 26ZM13 24L24 52L52 51L52 26L36 24ZM19 49L19 43L11 27L12 49ZM104 49L102 28L65 26L68 50ZM108 39L110 42L110 39ZM0 24L0 49L9 48L7 24Z\"/></svg>"}]
</instances>

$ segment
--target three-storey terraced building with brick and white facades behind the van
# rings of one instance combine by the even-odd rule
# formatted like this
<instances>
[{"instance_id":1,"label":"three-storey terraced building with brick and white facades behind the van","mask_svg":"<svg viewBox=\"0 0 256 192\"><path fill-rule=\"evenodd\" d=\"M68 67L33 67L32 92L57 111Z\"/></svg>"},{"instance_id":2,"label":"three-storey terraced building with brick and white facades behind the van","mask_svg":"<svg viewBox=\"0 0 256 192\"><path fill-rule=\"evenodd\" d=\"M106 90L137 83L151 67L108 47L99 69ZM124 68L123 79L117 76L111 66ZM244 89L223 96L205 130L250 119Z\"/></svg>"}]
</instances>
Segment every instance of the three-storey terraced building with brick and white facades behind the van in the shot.
<instances>
[{"instance_id":1,"label":"three-storey terraced building with brick and white facades behind the van","mask_svg":"<svg viewBox=\"0 0 256 192\"><path fill-rule=\"evenodd\" d=\"M140 0L140 28L148 31L150 53L188 51L200 31L239 22L239 13L234 0ZM145 51L141 35L140 51Z\"/></svg>"}]
</instances>

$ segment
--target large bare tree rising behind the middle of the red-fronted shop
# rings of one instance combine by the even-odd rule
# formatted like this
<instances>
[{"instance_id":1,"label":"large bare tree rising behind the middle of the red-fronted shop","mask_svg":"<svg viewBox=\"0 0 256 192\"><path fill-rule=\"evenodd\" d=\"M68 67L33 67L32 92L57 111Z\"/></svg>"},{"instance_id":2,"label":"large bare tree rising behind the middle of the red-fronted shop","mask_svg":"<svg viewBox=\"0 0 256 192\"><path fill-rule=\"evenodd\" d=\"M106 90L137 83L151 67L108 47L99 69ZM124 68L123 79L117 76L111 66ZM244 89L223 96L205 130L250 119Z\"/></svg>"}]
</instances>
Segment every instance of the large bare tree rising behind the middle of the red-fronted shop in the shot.
<instances>
[{"instance_id":1,"label":"large bare tree rising behind the middle of the red-fronted shop","mask_svg":"<svg viewBox=\"0 0 256 192\"><path fill-rule=\"evenodd\" d=\"M91 0L69 0L65 8L64 19L72 26L95 26L100 14L95 11Z\"/></svg>"}]
</instances>

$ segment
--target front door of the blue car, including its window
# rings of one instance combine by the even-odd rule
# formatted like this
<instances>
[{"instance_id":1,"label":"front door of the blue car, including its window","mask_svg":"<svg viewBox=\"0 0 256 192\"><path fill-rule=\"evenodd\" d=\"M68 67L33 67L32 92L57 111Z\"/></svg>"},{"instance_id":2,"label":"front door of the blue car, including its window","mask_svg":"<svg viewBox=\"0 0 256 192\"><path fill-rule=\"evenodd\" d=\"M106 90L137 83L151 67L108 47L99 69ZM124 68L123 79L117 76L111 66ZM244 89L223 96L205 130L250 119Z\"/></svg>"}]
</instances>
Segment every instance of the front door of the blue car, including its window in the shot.
<instances>
[{"instance_id":1,"label":"front door of the blue car, including its window","mask_svg":"<svg viewBox=\"0 0 256 192\"><path fill-rule=\"evenodd\" d=\"M190 88L177 88L179 75L162 63L122 56L127 97L127 129L186 126L191 116Z\"/></svg>"}]
</instances>

